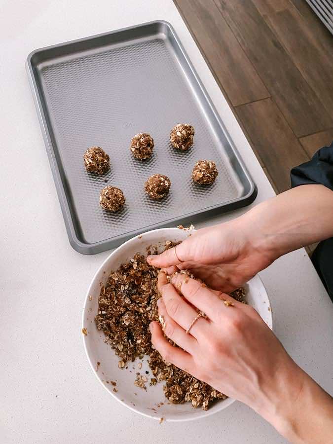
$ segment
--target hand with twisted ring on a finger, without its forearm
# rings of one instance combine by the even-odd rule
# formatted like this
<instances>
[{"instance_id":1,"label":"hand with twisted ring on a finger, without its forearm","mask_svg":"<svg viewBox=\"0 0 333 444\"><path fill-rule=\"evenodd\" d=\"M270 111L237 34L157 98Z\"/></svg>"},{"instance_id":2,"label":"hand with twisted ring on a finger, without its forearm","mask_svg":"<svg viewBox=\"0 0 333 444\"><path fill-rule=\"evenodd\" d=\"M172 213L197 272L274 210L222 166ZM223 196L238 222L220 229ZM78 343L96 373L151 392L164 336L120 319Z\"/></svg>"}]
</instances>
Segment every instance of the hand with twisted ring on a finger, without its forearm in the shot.
<instances>
[{"instance_id":1,"label":"hand with twisted ring on a finger, without its forearm","mask_svg":"<svg viewBox=\"0 0 333 444\"><path fill-rule=\"evenodd\" d=\"M152 343L163 359L253 408L268 405L283 376L277 370L294 371L296 365L257 311L228 295L219 296L181 273L168 283L166 274L160 272L158 288L164 333L181 347L173 347L160 325L152 323ZM233 305L225 305L221 298ZM197 315L193 305L208 319L199 318L186 334Z\"/></svg>"}]
</instances>

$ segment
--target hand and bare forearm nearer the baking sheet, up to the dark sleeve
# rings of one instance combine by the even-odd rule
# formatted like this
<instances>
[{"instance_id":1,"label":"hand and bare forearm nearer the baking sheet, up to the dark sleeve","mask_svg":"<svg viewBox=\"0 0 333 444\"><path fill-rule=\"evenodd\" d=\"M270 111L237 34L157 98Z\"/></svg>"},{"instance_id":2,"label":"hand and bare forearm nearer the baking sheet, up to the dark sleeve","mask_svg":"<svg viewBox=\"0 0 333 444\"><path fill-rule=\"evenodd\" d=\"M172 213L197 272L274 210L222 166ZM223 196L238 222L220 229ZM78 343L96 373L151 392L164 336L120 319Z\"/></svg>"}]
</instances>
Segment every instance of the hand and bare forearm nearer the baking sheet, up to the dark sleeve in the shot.
<instances>
[{"instance_id":1,"label":"hand and bare forearm nearer the baking sheet, up to the dark sleeve","mask_svg":"<svg viewBox=\"0 0 333 444\"><path fill-rule=\"evenodd\" d=\"M230 292L280 256L332 237L332 221L333 191L297 186L147 260L155 267L189 269L211 288Z\"/></svg>"}]
</instances>

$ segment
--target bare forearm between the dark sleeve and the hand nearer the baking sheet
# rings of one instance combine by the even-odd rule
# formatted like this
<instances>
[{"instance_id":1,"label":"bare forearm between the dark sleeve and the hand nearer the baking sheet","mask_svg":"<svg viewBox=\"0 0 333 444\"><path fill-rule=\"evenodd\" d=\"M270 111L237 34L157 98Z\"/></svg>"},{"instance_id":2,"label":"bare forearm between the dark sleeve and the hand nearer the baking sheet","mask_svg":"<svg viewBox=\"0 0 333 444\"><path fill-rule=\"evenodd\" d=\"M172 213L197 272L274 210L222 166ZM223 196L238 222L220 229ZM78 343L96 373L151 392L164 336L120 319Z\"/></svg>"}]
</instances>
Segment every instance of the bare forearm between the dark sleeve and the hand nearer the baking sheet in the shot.
<instances>
[{"instance_id":1,"label":"bare forearm between the dark sleeve and the hand nearer the baking sheet","mask_svg":"<svg viewBox=\"0 0 333 444\"><path fill-rule=\"evenodd\" d=\"M262 202L241 218L256 248L272 259L333 236L333 191L301 185Z\"/></svg>"}]
</instances>

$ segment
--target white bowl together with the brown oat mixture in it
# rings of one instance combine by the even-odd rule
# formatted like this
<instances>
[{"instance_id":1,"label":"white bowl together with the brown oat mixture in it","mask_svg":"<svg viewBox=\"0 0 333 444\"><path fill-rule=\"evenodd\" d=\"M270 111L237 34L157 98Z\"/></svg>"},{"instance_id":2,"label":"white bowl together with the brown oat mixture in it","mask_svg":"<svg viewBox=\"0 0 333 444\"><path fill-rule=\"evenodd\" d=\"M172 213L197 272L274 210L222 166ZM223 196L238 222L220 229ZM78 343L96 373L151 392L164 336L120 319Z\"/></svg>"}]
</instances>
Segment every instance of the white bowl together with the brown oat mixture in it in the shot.
<instances>
[{"instance_id":1,"label":"white bowl together with the brown oat mixture in it","mask_svg":"<svg viewBox=\"0 0 333 444\"><path fill-rule=\"evenodd\" d=\"M233 400L164 363L150 343L148 325L158 319L157 272L148 252L183 241L192 229L162 228L129 240L97 271L86 296L82 336L90 365L103 386L127 407L162 420L198 419ZM247 302L272 327L268 297L259 277L246 285ZM244 297L242 291L236 295ZM226 398L226 399L225 399Z\"/></svg>"}]
</instances>

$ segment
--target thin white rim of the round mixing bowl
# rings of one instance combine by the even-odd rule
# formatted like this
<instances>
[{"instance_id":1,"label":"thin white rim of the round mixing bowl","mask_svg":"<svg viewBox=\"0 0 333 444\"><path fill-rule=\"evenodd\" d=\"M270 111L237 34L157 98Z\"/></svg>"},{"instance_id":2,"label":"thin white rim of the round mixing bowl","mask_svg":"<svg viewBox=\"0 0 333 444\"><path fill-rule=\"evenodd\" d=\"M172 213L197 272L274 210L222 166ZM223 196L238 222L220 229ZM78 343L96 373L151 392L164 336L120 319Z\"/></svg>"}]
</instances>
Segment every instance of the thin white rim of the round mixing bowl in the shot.
<instances>
[{"instance_id":1,"label":"thin white rim of the round mixing bowl","mask_svg":"<svg viewBox=\"0 0 333 444\"><path fill-rule=\"evenodd\" d=\"M117 247L117 248L115 248L111 253L110 253L110 255L108 255L108 257L101 263L101 265L98 267L98 269L96 270L96 272L95 272L95 274L94 274L94 276L93 276L93 278L92 278L92 280L91 280L91 282L90 282L90 284L89 284L89 287L88 287L88 290L87 290L87 293L86 293L86 295L85 295L85 298L84 298L84 304L83 304L83 309L82 309L82 316L81 316L81 328L83 329L84 328L84 320L85 320L85 315L86 315L86 310L87 310L87 302L88 302L88 300L89 300L89 295L90 295L90 290L91 290L91 287L93 286L93 284L94 284L94 282L95 282L95 280L96 280L96 278L97 278L97 275L100 273L100 271L101 271L101 269L103 269L103 267L106 265L106 263L110 260L110 258L112 257L112 256L114 256L120 249L122 249L123 247L125 247L127 244L129 244L129 243L131 243L131 242L133 242L134 240L137 240L137 239L139 239L139 236L140 236L140 240L141 240L141 236L144 236L145 234L147 235L148 233L157 233L158 231L163 231L163 232L165 232L165 231L170 231L170 232L174 232L175 230L179 230L179 229L181 229L181 228L178 228L178 227L165 227L165 228L157 228L157 229L155 229L155 230L148 230L148 231L146 231L146 232L144 232L144 233L142 233L142 234L140 234L140 235L136 235L136 236L133 236L131 239L129 239L129 240L127 240L126 242L124 242L123 244L121 244L121 245L119 245L119 247ZM195 228L190 228L190 229L188 229L188 230L186 230L186 231L188 231L188 232L194 232L194 231L197 231ZM265 291L265 294L266 294L266 296L267 296L267 299L268 299L268 302L269 302L269 306L271 306L271 303L270 303L270 300L269 300L269 297L268 297L268 295L267 295L267 292L266 292L266 289L265 289L265 287L264 287L264 285L263 285L263 283L262 283L262 281L261 281L261 279L260 279L260 277L259 277L259 275L258 274L256 274L252 279L255 279L255 278L257 278L257 279L259 279L259 281L260 281L260 283L261 283L261 285L262 285L262 287L263 287L263 289L264 289L264 291ZM270 326L268 326L272 331L273 331L273 316L272 316L272 310L270 310L270 314L269 314L269 318L270 318L270 323L271 323L271 327ZM120 404L122 404L124 407L127 407L127 408L129 408L129 409L131 409L132 411L134 411L134 412L136 412L136 413L139 413L139 414L141 414L141 415L143 415L143 416L146 416L146 417L148 417L148 418L150 418L150 419L154 419L154 420L160 420L160 418L159 417L157 417L157 416L152 416L151 414L149 414L149 413L146 413L146 412L143 412L143 411L141 411L141 410L139 410L139 409L137 409L137 408L135 408L135 407L133 407L133 406L131 406L131 405L129 405L129 404L127 404L125 401L122 401L120 398L118 398L115 394L113 394L112 392L111 392L111 390L109 390L109 388L108 387L106 387L106 385L102 382L102 379L100 378L100 376L99 376L99 374L97 373L97 371L96 371L96 369L95 369L95 366L93 365L93 363L92 363L92 360L90 359L90 355L89 355L89 353L88 353L88 350L87 350L87 346L86 346L86 342L85 342L85 335L84 334L82 334L82 340L83 340L83 347L84 347L84 351L85 351L85 354L86 354L86 357L87 357L87 359L88 359L88 362L89 362L89 365L90 365L90 368L91 368L91 370L93 371L93 373L94 373L94 375L95 375L95 377L97 378L97 380L99 381L99 383L103 386L103 388L116 400L116 401L118 401ZM218 413L218 412L220 412L221 410L223 410L224 408L227 408L227 407L229 407L229 406L231 406L231 404L233 404L234 402L235 402L236 400L235 399L233 399L233 398L227 398L227 399L225 399L225 400L223 400L223 402L222 403L220 403L221 404L221 407L220 408L218 408L218 409L208 409L208 410L201 410L201 414L197 414L196 416L189 416L189 417L185 417L185 418L171 418L171 419L168 419L168 418L166 418L166 419L164 419L164 420L166 420L166 421L168 421L168 422L187 422L187 421L194 421L194 420L198 420L198 419L203 419L203 418L206 418L207 416L210 416L210 415L213 415L213 414L215 414L215 413Z\"/></svg>"}]
</instances>

